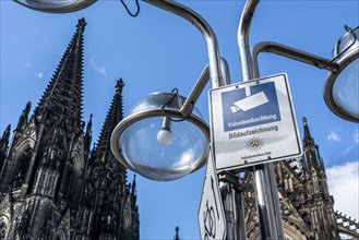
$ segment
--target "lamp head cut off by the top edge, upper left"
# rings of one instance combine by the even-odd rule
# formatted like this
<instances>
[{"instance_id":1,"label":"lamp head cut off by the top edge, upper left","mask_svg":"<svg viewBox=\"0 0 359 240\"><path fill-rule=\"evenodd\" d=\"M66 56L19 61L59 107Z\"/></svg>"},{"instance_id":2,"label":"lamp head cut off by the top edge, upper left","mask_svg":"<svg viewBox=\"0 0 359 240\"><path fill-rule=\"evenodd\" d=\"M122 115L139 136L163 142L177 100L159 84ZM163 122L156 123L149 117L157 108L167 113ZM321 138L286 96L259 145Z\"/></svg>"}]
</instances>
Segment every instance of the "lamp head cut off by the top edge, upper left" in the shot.
<instances>
[{"instance_id":1,"label":"lamp head cut off by the top edge, upper left","mask_svg":"<svg viewBox=\"0 0 359 240\"><path fill-rule=\"evenodd\" d=\"M52 13L67 13L85 9L97 0L14 0L27 8Z\"/></svg>"}]
</instances>

